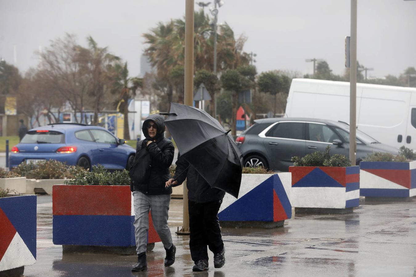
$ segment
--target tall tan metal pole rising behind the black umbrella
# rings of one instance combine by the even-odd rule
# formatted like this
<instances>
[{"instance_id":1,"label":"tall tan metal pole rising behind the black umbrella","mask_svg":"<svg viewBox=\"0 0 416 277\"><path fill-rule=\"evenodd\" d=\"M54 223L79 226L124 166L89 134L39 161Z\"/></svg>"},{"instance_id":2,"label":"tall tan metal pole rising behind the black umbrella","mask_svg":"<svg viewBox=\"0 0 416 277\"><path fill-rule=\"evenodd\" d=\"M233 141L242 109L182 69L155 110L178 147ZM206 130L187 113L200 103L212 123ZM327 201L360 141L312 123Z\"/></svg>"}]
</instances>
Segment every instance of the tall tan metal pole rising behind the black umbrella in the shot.
<instances>
[{"instance_id":1,"label":"tall tan metal pole rising behind the black umbrella","mask_svg":"<svg viewBox=\"0 0 416 277\"><path fill-rule=\"evenodd\" d=\"M193 106L193 7L194 0L185 2L185 105ZM177 234L189 234L188 188L183 183L183 223Z\"/></svg>"}]
</instances>

